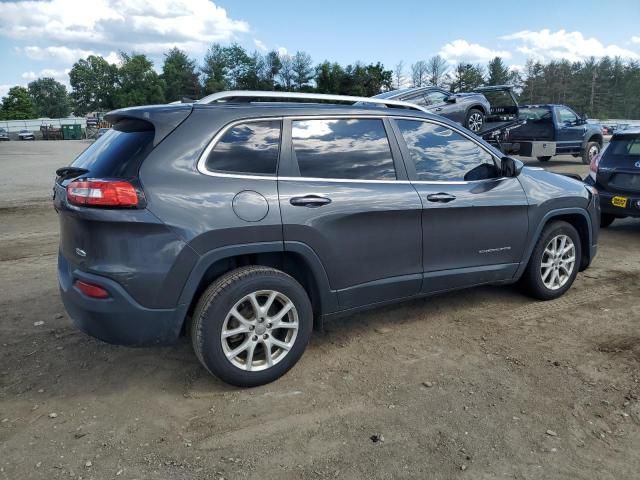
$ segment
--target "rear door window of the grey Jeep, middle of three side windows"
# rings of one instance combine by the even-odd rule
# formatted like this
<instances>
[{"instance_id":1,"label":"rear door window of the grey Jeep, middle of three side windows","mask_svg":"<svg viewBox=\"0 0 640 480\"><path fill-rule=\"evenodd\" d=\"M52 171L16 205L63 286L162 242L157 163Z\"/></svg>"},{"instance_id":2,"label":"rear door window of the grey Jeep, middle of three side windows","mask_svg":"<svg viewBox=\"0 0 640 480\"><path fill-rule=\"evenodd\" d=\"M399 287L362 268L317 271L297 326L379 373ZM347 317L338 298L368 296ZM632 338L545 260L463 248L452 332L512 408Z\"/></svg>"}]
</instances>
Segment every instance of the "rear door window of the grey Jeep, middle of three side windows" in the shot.
<instances>
[{"instance_id":1,"label":"rear door window of the grey Jeep, middle of three side windows","mask_svg":"<svg viewBox=\"0 0 640 480\"><path fill-rule=\"evenodd\" d=\"M294 120L291 142L302 177L396 178L387 133L380 119Z\"/></svg>"}]
</instances>

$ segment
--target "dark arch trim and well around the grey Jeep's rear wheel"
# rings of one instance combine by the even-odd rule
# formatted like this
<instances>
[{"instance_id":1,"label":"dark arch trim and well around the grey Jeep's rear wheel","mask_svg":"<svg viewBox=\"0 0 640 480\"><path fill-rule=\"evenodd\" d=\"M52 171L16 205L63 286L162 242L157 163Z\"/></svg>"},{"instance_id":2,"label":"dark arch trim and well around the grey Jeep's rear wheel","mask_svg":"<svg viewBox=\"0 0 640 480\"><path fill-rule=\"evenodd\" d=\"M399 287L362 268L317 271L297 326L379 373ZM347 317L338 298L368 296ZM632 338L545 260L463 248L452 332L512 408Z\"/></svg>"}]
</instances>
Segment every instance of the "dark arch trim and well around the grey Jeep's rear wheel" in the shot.
<instances>
[{"instance_id":1,"label":"dark arch trim and well around the grey Jeep's rear wheel","mask_svg":"<svg viewBox=\"0 0 640 480\"><path fill-rule=\"evenodd\" d=\"M288 243L288 242L287 242ZM305 289L314 311L314 327L321 328L322 315L337 309L335 294L329 288L324 267L313 250L291 242L287 250L282 242L232 245L202 255L192 269L180 295L181 330L193 313L200 295L221 275L247 265L262 265L281 270L295 278Z\"/></svg>"}]
</instances>

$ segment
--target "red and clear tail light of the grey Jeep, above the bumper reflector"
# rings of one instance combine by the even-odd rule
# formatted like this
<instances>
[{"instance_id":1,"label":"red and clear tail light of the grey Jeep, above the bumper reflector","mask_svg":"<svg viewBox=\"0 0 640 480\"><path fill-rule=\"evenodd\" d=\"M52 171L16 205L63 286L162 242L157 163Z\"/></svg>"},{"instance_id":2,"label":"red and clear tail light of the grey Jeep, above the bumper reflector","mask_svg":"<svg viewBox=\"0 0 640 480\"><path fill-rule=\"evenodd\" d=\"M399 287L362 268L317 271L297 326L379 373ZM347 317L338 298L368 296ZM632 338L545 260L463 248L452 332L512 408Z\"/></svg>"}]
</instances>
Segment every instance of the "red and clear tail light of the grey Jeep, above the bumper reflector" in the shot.
<instances>
[{"instance_id":1,"label":"red and clear tail light of the grey Jeep, above the bumper reflector","mask_svg":"<svg viewBox=\"0 0 640 480\"><path fill-rule=\"evenodd\" d=\"M73 205L137 207L138 193L126 180L76 180L67 185L67 200Z\"/></svg>"}]
</instances>

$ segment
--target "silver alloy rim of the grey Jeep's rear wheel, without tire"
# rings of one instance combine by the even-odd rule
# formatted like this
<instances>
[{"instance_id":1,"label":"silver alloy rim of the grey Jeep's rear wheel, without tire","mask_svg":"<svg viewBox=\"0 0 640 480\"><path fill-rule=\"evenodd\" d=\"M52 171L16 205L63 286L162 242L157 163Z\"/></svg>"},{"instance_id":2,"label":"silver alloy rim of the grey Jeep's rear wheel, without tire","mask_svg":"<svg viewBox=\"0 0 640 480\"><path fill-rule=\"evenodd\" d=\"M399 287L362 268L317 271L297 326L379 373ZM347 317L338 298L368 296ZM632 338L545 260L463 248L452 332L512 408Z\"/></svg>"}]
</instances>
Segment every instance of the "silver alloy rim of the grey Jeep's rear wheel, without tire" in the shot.
<instances>
[{"instance_id":1,"label":"silver alloy rim of the grey Jeep's rear wheel, without tire","mask_svg":"<svg viewBox=\"0 0 640 480\"><path fill-rule=\"evenodd\" d=\"M245 295L227 314L220 341L227 360L256 372L276 365L298 336L298 311L281 292L260 290Z\"/></svg>"}]
</instances>

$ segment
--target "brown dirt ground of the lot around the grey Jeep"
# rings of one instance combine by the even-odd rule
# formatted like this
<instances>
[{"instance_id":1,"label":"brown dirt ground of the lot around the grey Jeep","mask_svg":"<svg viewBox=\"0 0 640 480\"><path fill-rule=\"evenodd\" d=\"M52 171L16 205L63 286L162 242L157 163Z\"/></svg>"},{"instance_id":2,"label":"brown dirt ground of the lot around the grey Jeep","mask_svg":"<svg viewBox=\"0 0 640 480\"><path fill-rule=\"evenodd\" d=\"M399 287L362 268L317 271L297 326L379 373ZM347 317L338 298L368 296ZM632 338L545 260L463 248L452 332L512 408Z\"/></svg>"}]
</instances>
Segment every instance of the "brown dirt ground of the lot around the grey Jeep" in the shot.
<instances>
[{"instance_id":1,"label":"brown dirt ground of the lot around the grey Jeep","mask_svg":"<svg viewBox=\"0 0 640 480\"><path fill-rule=\"evenodd\" d=\"M186 341L71 325L49 196L85 146L0 144L0 480L639 478L640 221L603 231L561 299L487 287L362 313L242 390Z\"/></svg>"}]
</instances>

